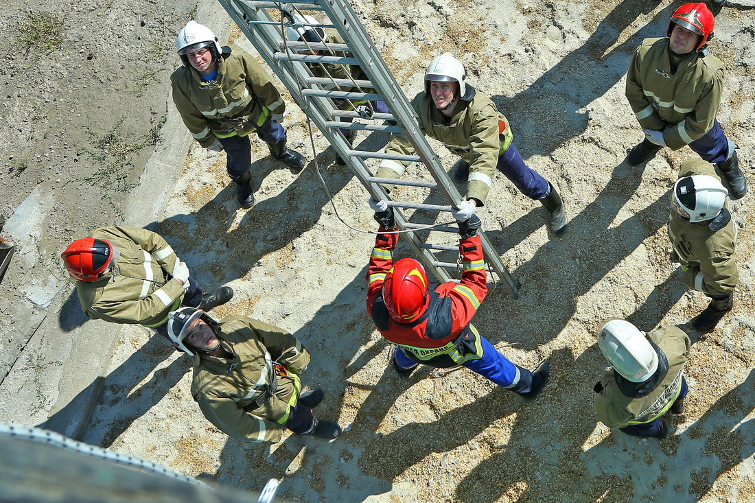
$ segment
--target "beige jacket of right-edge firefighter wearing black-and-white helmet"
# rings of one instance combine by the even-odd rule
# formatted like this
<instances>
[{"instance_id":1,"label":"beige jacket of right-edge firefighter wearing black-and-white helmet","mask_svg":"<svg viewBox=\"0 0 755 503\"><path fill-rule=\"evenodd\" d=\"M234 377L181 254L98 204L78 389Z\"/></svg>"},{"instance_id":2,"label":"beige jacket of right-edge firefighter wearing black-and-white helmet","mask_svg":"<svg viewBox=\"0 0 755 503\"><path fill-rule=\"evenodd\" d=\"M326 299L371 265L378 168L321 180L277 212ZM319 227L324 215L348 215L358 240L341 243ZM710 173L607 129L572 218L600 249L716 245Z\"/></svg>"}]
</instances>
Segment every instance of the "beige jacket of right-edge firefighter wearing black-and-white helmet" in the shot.
<instances>
[{"instance_id":1,"label":"beige jacket of right-edge firefighter wearing black-and-white helmet","mask_svg":"<svg viewBox=\"0 0 755 503\"><path fill-rule=\"evenodd\" d=\"M694 174L718 178L710 162L702 159L683 162L680 177ZM729 295L739 281L734 258L737 227L732 220L715 232L710 230L709 225L710 221L690 222L671 210L668 236L680 263L687 268L683 279L685 285L710 295Z\"/></svg>"}]
</instances>

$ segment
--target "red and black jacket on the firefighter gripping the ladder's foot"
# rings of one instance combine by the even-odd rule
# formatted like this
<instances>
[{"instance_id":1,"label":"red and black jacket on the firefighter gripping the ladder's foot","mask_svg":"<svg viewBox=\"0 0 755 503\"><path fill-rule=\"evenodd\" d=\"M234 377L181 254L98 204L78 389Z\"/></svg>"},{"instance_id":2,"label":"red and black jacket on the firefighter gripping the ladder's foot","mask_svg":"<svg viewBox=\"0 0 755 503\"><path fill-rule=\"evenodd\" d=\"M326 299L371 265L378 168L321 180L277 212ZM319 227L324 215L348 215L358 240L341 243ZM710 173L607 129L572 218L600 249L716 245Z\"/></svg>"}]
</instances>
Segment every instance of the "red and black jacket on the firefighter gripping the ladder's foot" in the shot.
<instances>
[{"instance_id":1,"label":"red and black jacket on the firefighter gripping the ladder's foot","mask_svg":"<svg viewBox=\"0 0 755 503\"><path fill-rule=\"evenodd\" d=\"M367 273L367 312L381 335L402 347L411 360L434 367L460 366L482 357L479 333L470 323L488 293L479 236L459 240L464 267L461 282L431 285L427 310L408 323L391 318L383 301L383 282L393 266L398 240L398 234L377 234Z\"/></svg>"}]
</instances>

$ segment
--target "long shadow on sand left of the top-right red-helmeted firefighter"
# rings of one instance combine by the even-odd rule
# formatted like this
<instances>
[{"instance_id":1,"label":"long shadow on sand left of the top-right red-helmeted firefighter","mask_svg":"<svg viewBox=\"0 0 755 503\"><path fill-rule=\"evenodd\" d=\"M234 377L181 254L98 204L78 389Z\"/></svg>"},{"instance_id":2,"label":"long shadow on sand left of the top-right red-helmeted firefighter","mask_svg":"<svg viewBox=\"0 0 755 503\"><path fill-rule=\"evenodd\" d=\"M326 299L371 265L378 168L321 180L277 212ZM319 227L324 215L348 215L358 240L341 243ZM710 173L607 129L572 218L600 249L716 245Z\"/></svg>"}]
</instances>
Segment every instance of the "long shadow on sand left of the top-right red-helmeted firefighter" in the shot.
<instances>
[{"instance_id":1,"label":"long shadow on sand left of the top-right red-helmeted firefighter","mask_svg":"<svg viewBox=\"0 0 755 503\"><path fill-rule=\"evenodd\" d=\"M660 1L623 0L606 15L584 44L563 57L524 91L512 97L504 94L492 96L498 110L513 118L516 136L526 139L516 141L515 138L522 156L547 156L587 129L587 112L579 110L606 94L621 80L627 73L632 52L643 39L666 33L673 5L658 13L626 41L611 48L619 33L624 32L639 14L652 11ZM612 69L612 66L618 69ZM631 114L629 106L626 113Z\"/></svg>"}]
</instances>

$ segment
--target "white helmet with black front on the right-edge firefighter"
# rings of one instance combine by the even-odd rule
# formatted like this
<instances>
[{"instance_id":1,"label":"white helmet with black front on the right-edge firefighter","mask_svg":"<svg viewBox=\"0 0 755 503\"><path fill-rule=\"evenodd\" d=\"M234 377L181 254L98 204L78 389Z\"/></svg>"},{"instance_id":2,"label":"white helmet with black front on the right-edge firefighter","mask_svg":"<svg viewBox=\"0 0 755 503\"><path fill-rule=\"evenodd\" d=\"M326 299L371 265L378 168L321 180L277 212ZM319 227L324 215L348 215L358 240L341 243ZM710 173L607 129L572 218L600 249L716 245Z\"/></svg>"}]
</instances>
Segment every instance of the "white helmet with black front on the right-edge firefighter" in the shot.
<instances>
[{"instance_id":1,"label":"white helmet with black front on the right-edge firefighter","mask_svg":"<svg viewBox=\"0 0 755 503\"><path fill-rule=\"evenodd\" d=\"M690 222L702 222L718 216L727 195L729 191L716 177L693 174L676 181L671 203Z\"/></svg>"}]
</instances>

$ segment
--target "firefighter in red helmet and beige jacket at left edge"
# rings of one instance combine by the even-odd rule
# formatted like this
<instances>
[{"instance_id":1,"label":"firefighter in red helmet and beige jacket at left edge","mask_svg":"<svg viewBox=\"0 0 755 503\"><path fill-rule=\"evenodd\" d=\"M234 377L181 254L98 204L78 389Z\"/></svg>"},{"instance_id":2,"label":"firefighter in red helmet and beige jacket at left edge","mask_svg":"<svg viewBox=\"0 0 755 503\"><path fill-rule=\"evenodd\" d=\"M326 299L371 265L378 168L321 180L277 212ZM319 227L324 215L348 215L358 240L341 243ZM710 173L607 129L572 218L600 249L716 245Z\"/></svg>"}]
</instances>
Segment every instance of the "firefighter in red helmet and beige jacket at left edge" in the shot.
<instances>
[{"instance_id":1,"label":"firefighter in red helmet and beige jacket at left edge","mask_svg":"<svg viewBox=\"0 0 755 503\"><path fill-rule=\"evenodd\" d=\"M102 227L76 239L61 255L84 313L112 323L138 323L167 337L168 313L180 306L211 310L233 297L222 286L213 294L190 277L171 245L137 227Z\"/></svg>"}]
</instances>

